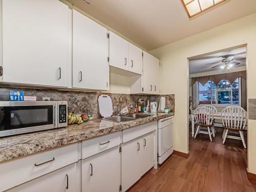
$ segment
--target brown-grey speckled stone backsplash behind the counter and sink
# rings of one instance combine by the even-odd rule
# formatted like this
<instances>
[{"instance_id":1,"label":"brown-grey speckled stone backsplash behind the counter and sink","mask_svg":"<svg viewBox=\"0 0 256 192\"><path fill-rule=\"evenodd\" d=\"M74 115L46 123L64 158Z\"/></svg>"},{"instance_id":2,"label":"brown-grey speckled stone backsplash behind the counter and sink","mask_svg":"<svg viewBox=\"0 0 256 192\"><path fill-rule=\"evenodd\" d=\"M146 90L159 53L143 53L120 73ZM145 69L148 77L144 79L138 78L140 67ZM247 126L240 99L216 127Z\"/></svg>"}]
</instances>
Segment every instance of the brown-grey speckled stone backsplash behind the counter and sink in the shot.
<instances>
[{"instance_id":1,"label":"brown-grey speckled stone backsplash behind the counter and sink","mask_svg":"<svg viewBox=\"0 0 256 192\"><path fill-rule=\"evenodd\" d=\"M77 92L77 91L59 91L53 89L23 89L23 88L0 88L0 100L9 100L9 91L24 91L24 96L36 96L37 100L42 100L42 97L50 97L51 100L68 101L69 112L75 112L78 114L86 113L94 117L99 117L98 109L98 95L104 93L95 92ZM166 106L173 112L175 111L175 98L174 95L129 95L129 94L113 94L108 93L111 96L113 102L114 114L117 114L117 106L121 105L124 108L127 105L136 105L139 98L143 99L145 104L147 100L156 101L159 103L160 97L166 98ZM132 109L130 112L133 112Z\"/></svg>"}]
</instances>

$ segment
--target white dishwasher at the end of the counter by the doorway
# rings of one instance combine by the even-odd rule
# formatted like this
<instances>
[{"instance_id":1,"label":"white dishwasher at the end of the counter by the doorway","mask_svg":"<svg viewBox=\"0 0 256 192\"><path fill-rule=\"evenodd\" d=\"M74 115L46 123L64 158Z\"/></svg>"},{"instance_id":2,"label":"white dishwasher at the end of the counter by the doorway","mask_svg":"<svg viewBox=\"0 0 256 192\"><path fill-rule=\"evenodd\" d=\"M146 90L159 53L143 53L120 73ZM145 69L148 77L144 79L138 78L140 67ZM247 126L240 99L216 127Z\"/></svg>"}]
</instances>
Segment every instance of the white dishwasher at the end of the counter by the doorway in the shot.
<instances>
[{"instance_id":1,"label":"white dishwasher at the end of the counter by the doorway","mask_svg":"<svg viewBox=\"0 0 256 192\"><path fill-rule=\"evenodd\" d=\"M174 142L173 116L158 120L158 163L172 155Z\"/></svg>"}]
</instances>

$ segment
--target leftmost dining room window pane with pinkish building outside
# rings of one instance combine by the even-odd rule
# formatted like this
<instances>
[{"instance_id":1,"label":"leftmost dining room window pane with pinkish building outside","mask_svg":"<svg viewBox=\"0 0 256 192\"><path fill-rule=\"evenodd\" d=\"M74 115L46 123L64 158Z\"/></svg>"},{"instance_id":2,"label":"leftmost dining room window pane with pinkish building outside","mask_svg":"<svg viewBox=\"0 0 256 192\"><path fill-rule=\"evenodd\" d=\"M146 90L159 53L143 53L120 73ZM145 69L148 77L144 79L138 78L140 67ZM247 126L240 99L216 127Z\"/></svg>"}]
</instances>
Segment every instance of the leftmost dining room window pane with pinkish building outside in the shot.
<instances>
[{"instance_id":1,"label":"leftmost dining room window pane with pinkish building outside","mask_svg":"<svg viewBox=\"0 0 256 192\"><path fill-rule=\"evenodd\" d=\"M204 86L199 83L199 104L211 104L211 81Z\"/></svg>"}]
</instances>

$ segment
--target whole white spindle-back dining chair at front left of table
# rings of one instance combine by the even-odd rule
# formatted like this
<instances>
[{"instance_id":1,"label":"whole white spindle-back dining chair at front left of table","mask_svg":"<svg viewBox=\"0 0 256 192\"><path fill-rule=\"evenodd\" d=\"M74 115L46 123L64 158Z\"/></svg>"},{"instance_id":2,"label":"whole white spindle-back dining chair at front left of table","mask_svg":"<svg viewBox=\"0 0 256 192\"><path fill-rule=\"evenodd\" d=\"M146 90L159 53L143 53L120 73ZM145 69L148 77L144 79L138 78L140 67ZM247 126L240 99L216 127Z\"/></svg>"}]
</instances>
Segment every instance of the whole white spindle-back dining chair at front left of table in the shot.
<instances>
[{"instance_id":1,"label":"whole white spindle-back dining chair at front left of table","mask_svg":"<svg viewBox=\"0 0 256 192\"><path fill-rule=\"evenodd\" d=\"M197 125L195 138L197 137L198 133L208 134L210 141L212 141L211 135L215 137L215 131L212 124L214 120L214 113L211 111L211 109L201 106L195 109L194 117Z\"/></svg>"}]
</instances>

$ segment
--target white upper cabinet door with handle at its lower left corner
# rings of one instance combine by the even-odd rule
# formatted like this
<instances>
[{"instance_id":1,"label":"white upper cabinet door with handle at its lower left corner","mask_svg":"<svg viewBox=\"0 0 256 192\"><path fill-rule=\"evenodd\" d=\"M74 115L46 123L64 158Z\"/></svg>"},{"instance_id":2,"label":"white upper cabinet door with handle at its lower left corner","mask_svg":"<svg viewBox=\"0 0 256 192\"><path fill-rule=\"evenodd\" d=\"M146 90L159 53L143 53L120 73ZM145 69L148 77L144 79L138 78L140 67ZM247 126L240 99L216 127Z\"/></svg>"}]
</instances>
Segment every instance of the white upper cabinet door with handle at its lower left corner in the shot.
<instances>
[{"instance_id":1,"label":"white upper cabinet door with handle at its lower left corner","mask_svg":"<svg viewBox=\"0 0 256 192\"><path fill-rule=\"evenodd\" d=\"M73 10L73 87L108 90L107 30Z\"/></svg>"}]
</instances>

